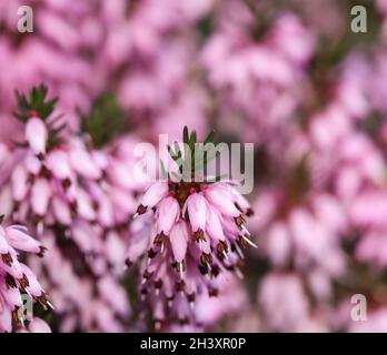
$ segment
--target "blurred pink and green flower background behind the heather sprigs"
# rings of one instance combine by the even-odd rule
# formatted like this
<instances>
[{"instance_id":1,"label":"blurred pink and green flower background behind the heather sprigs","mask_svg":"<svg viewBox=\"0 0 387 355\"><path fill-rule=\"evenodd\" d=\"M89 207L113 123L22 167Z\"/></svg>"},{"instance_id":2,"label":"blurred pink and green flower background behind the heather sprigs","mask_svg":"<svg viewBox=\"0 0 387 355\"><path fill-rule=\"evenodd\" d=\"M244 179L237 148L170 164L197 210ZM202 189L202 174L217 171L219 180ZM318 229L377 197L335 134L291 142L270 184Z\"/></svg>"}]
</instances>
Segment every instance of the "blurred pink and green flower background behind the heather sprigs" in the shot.
<instances>
[{"instance_id":1,"label":"blurred pink and green flower background behind the heather sprigs","mask_svg":"<svg viewBox=\"0 0 387 355\"><path fill-rule=\"evenodd\" d=\"M17 30L22 4L33 33ZM356 4L367 9L366 33L350 30ZM259 248L242 281L198 305L205 329L387 331L387 1L1 0L2 141L22 132L14 90L40 82L75 132L85 129L79 112L99 118L98 146L119 135L180 140L183 125L255 143L247 197ZM57 302L43 315L52 328L138 331L130 274L86 291L95 278L51 242L52 267L86 300L43 281ZM39 261L31 266L39 273ZM350 317L355 294L366 296L366 322Z\"/></svg>"}]
</instances>

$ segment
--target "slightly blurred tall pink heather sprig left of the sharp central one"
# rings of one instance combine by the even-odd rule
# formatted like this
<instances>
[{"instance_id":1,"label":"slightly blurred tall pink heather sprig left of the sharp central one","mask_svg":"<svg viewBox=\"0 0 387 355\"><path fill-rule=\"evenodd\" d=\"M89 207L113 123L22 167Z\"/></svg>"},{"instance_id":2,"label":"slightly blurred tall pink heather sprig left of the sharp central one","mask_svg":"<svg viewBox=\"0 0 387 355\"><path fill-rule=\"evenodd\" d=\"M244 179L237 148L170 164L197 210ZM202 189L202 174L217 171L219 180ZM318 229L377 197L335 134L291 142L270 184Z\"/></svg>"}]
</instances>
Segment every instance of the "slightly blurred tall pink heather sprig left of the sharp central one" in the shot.
<instances>
[{"instance_id":1,"label":"slightly blurred tall pink heather sprig left of the sharp central one","mask_svg":"<svg viewBox=\"0 0 387 355\"><path fill-rule=\"evenodd\" d=\"M0 209L49 246L42 263L31 263L54 295L61 329L120 332L130 314L120 285L127 225L141 186L130 179L136 142L128 136L98 150L66 138L44 111L46 88L34 90L42 94L42 115L21 110L24 140L1 146Z\"/></svg>"}]
</instances>

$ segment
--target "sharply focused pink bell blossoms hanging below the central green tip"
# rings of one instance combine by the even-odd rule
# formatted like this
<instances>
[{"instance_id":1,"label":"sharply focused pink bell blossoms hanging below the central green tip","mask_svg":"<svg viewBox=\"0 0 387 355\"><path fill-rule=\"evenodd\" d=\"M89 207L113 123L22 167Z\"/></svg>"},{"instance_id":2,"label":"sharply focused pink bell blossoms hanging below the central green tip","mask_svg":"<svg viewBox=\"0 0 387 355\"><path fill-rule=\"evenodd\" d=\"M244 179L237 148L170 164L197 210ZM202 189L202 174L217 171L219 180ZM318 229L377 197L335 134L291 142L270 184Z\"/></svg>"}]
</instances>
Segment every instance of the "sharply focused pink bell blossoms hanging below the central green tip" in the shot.
<instances>
[{"instance_id":1,"label":"sharply focused pink bell blossoms hanging below the central green tip","mask_svg":"<svg viewBox=\"0 0 387 355\"><path fill-rule=\"evenodd\" d=\"M218 296L232 273L242 277L242 250L256 246L246 227L251 214L230 182L169 179L147 187L135 214L127 264L147 255L140 293L157 328L169 322L196 325L196 297Z\"/></svg>"}]
</instances>

